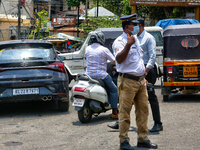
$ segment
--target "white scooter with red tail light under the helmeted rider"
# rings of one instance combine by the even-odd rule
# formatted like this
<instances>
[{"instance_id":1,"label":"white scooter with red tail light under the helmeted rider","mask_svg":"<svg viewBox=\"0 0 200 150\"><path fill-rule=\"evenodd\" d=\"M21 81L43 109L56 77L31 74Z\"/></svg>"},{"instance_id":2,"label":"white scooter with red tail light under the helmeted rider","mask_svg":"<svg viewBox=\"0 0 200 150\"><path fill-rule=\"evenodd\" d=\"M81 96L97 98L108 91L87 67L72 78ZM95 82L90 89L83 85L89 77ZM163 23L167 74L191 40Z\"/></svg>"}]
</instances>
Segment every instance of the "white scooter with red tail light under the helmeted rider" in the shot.
<instances>
[{"instance_id":1,"label":"white scooter with red tail light under the helmeted rider","mask_svg":"<svg viewBox=\"0 0 200 150\"><path fill-rule=\"evenodd\" d=\"M80 122L88 123L92 115L98 116L100 113L112 109L102 80L92 79L87 74L77 75L76 80L78 82L71 90L72 105L78 111Z\"/></svg>"}]
</instances>

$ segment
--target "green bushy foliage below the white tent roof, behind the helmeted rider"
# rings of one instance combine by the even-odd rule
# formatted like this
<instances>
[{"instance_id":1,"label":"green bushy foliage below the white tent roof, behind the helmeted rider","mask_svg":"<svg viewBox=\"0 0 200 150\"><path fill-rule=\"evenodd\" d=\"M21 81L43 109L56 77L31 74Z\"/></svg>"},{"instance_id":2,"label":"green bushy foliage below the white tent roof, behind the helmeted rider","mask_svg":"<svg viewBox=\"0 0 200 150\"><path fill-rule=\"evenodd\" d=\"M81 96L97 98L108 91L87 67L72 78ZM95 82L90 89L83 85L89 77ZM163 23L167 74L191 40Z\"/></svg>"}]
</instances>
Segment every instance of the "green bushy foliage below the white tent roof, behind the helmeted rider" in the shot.
<instances>
[{"instance_id":1,"label":"green bushy foliage below the white tent roof, behind the helmeted rider","mask_svg":"<svg viewBox=\"0 0 200 150\"><path fill-rule=\"evenodd\" d=\"M119 17L88 17L80 24L79 30L84 33L84 39L88 33L97 28L122 27Z\"/></svg>"}]
</instances>

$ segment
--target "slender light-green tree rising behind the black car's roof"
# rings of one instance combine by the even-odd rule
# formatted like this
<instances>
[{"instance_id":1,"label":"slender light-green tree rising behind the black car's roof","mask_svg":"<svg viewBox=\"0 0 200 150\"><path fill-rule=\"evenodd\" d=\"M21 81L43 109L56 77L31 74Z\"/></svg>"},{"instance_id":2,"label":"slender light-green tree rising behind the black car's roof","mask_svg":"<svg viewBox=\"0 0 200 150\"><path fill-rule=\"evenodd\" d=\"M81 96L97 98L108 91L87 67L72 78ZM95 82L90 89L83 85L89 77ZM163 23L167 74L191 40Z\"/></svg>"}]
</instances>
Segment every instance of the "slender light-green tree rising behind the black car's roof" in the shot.
<instances>
[{"instance_id":1,"label":"slender light-green tree rising behind the black car's roof","mask_svg":"<svg viewBox=\"0 0 200 150\"><path fill-rule=\"evenodd\" d=\"M38 39L43 38L42 32L44 31L43 27L46 26L47 22L49 21L49 17L47 16L48 12L46 10L42 10L41 12L37 13L37 17L35 17L36 23L35 23L35 29L31 31L31 34L29 34L28 38L35 39L35 36ZM49 28L47 28L47 31L49 32Z\"/></svg>"}]
</instances>

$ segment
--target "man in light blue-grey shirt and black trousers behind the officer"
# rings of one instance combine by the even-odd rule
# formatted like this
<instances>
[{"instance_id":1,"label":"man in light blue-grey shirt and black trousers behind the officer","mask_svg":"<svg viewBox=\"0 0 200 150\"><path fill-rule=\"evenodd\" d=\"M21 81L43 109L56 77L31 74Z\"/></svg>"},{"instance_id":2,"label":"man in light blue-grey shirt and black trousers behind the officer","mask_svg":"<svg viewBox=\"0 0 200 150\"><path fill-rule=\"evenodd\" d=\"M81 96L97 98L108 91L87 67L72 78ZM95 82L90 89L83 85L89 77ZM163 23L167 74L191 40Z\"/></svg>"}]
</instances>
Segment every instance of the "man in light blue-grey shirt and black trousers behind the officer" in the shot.
<instances>
[{"instance_id":1,"label":"man in light blue-grey shirt and black trousers behind the officer","mask_svg":"<svg viewBox=\"0 0 200 150\"><path fill-rule=\"evenodd\" d=\"M149 83L154 85L156 82L156 71L154 68L156 61L156 41L150 33L144 30L144 19L138 18L137 20L140 22L140 32L138 33L137 37L140 41L141 48L143 49L143 60L146 67L145 78ZM162 131L163 126L160 119L159 103L154 88L151 91L148 91L148 96L154 120L154 126L150 132Z\"/></svg>"}]
</instances>

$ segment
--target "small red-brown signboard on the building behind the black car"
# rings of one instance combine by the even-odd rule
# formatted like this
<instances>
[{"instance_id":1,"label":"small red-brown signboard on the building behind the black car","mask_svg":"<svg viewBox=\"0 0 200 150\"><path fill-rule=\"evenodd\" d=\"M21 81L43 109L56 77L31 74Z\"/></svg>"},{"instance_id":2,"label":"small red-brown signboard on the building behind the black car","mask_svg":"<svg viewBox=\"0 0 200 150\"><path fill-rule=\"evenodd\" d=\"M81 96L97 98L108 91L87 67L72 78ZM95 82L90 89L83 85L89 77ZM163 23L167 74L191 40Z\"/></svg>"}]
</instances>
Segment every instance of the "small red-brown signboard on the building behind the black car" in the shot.
<instances>
[{"instance_id":1,"label":"small red-brown signboard on the building behind the black car","mask_svg":"<svg viewBox=\"0 0 200 150\"><path fill-rule=\"evenodd\" d=\"M76 17L52 17L52 25L76 25Z\"/></svg>"}]
</instances>

